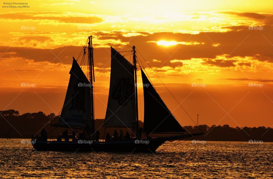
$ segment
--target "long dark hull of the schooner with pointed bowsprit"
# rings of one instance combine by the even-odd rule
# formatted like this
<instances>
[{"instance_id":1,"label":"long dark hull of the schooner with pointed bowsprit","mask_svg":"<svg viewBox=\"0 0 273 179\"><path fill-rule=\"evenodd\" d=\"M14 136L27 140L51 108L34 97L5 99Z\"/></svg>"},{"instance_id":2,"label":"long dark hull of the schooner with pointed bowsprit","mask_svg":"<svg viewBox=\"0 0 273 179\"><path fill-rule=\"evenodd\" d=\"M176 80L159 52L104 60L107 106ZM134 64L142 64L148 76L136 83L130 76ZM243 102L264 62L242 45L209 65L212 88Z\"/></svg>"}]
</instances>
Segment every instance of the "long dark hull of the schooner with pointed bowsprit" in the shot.
<instances>
[{"instance_id":1,"label":"long dark hull of the schooner with pointed bowsprit","mask_svg":"<svg viewBox=\"0 0 273 179\"><path fill-rule=\"evenodd\" d=\"M77 141L32 141L37 151L82 151L82 152L155 152L156 149L168 140L181 140L202 135L196 133L190 135L178 135L170 137L156 137L144 140L92 142L88 139Z\"/></svg>"}]
</instances>

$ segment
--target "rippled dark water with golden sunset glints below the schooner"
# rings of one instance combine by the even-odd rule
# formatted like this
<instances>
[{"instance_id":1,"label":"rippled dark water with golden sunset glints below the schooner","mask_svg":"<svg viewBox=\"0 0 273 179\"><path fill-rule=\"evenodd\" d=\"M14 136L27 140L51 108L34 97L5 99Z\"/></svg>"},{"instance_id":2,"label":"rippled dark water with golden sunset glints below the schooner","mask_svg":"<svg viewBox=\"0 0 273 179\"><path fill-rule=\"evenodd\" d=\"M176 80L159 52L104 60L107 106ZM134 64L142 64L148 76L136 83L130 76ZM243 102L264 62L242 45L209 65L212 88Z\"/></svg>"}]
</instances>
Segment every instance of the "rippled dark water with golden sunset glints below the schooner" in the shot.
<instances>
[{"instance_id":1,"label":"rippled dark water with golden sunset glints below the schooner","mask_svg":"<svg viewBox=\"0 0 273 179\"><path fill-rule=\"evenodd\" d=\"M156 153L81 153L38 152L21 140L0 139L0 178L273 177L270 142L186 141Z\"/></svg>"}]
</instances>

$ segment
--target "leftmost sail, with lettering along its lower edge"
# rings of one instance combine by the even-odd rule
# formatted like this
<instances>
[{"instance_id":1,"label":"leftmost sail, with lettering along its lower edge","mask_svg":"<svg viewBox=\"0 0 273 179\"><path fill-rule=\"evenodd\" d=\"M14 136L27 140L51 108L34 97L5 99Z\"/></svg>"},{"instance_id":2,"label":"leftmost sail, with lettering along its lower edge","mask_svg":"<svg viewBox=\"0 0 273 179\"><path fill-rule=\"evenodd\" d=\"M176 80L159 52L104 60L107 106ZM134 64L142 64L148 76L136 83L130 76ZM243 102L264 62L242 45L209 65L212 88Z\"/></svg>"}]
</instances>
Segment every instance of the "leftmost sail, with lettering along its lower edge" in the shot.
<instances>
[{"instance_id":1,"label":"leftmost sail, with lettering along its lower edge","mask_svg":"<svg viewBox=\"0 0 273 179\"><path fill-rule=\"evenodd\" d=\"M88 123L88 111L90 110L90 82L75 59L69 72L70 79L63 104L59 124L60 127L83 128ZM92 126L90 126L92 127Z\"/></svg>"}]
</instances>

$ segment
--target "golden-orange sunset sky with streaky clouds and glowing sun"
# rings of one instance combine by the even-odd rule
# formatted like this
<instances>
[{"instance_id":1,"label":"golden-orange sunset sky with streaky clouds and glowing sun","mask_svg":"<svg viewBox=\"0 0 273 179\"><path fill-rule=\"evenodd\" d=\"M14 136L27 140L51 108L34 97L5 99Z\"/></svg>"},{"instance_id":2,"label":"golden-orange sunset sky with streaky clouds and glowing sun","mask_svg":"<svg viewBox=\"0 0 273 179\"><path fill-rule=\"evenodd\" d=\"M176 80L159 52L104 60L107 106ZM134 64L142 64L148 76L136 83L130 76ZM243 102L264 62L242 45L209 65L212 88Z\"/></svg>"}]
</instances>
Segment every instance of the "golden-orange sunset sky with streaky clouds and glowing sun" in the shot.
<instances>
[{"instance_id":1,"label":"golden-orange sunset sky with streaky clouds and glowing sun","mask_svg":"<svg viewBox=\"0 0 273 179\"><path fill-rule=\"evenodd\" d=\"M16 1L29 8L4 2L10 1L0 0L0 110L57 114L72 57L92 35L95 118L105 117L110 46L131 50L102 38L135 45L189 115L200 115L199 124L273 125L273 1ZM177 120L194 125L144 59Z\"/></svg>"}]
</instances>

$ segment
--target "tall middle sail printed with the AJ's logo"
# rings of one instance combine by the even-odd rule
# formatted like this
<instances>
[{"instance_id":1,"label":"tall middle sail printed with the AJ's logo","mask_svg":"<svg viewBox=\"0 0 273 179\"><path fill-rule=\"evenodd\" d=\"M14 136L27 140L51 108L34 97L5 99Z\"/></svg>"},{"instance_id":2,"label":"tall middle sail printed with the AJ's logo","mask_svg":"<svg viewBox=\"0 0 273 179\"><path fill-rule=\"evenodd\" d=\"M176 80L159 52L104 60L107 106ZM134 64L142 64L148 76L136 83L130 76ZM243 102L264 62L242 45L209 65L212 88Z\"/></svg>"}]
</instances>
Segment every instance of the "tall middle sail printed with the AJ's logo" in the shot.
<instances>
[{"instance_id":1,"label":"tall middle sail printed with the AJ's logo","mask_svg":"<svg viewBox=\"0 0 273 179\"><path fill-rule=\"evenodd\" d=\"M111 76L104 126L136 124L134 67L111 47Z\"/></svg>"}]
</instances>

